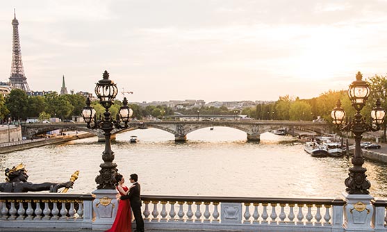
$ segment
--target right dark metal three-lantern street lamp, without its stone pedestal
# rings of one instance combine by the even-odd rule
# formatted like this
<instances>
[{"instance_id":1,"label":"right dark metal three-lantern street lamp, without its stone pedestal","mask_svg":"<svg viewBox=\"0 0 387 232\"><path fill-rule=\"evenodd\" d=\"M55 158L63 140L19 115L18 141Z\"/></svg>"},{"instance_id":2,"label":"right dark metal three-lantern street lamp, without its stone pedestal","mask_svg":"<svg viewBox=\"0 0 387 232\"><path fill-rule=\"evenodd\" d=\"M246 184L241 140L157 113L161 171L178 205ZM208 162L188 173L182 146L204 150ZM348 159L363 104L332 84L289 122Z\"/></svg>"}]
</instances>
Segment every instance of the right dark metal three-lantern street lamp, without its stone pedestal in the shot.
<instances>
[{"instance_id":1,"label":"right dark metal three-lantern street lamp, without its stone pedestal","mask_svg":"<svg viewBox=\"0 0 387 232\"><path fill-rule=\"evenodd\" d=\"M332 110L331 117L334 119L333 123L336 124L340 131L352 131L355 135L355 152L352 158L352 164L354 167L349 167L349 176L345 179L345 190L348 194L368 194L368 189L371 186L370 181L367 180L365 172L367 169L362 167L364 163L363 156L361 154L361 135L366 131L379 131L381 124L384 123L384 116L386 112L380 107L380 101L377 100L377 107L371 112L372 122L368 124L365 122L365 118L361 115L360 111L365 106L365 101L370 96L370 88L368 83L362 81L363 75L358 72L356 74L356 81L349 85L348 96L352 101L352 106L356 109L354 119L349 121L346 119L345 123L345 111L341 108L340 100L336 103L336 108Z\"/></svg>"}]
</instances>

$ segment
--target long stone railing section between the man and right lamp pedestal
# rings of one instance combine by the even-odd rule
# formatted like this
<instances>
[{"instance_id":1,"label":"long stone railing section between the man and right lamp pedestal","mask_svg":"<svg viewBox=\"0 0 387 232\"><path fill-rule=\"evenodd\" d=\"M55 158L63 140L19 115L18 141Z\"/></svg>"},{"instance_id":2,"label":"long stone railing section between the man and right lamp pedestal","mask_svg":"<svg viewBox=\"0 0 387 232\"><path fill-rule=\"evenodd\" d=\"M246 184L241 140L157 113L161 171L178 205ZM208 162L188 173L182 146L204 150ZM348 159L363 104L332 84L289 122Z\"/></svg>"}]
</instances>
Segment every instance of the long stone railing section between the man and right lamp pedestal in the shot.
<instances>
[{"instance_id":1,"label":"long stone railing section between the man and right lamp pedestal","mask_svg":"<svg viewBox=\"0 0 387 232\"><path fill-rule=\"evenodd\" d=\"M342 199L143 196L148 229L344 231Z\"/></svg>"}]
</instances>

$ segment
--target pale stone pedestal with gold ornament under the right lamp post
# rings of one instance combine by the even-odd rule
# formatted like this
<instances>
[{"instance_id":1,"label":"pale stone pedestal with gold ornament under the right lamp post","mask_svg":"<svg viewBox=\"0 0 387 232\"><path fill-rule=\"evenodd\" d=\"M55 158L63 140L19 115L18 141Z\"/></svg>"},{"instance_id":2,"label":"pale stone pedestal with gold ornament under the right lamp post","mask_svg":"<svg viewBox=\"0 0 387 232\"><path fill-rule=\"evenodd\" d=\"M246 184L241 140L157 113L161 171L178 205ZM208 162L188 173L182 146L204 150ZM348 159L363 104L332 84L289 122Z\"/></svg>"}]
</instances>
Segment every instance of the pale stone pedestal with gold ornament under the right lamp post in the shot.
<instances>
[{"instance_id":1,"label":"pale stone pedestal with gold ornament under the right lamp post","mask_svg":"<svg viewBox=\"0 0 387 232\"><path fill-rule=\"evenodd\" d=\"M374 208L369 194L347 194L343 192L347 203L344 206L344 228L345 231L374 231L371 227L371 219Z\"/></svg>"}]
</instances>

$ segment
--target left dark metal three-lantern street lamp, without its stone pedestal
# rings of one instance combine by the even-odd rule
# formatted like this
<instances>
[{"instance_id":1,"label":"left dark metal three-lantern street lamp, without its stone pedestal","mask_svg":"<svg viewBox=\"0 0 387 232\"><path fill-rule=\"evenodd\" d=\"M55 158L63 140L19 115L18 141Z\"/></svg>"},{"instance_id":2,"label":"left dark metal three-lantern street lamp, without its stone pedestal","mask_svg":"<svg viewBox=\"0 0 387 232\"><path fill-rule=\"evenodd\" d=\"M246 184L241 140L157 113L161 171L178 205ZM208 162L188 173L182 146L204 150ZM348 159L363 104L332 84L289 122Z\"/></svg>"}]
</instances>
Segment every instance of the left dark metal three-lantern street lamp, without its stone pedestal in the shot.
<instances>
[{"instance_id":1,"label":"left dark metal three-lantern street lamp, without its stone pedestal","mask_svg":"<svg viewBox=\"0 0 387 232\"><path fill-rule=\"evenodd\" d=\"M114 104L115 96L117 96L117 85L109 80L107 71L104 72L104 78L96 84L95 94L97 94L99 103L105 108L104 117L97 120L95 110L90 106L89 98L86 100L86 106L82 110L82 116L88 124L88 129L101 129L104 131L105 135L105 150L102 153L102 160L104 160L104 163L99 165L101 170L99 171L99 175L95 178L95 182L98 184L97 189L114 190L117 164L113 163L114 152L111 150L110 132L113 130L113 126L117 129L127 128L129 117L131 117L133 111L128 107L128 101L125 97L123 101L124 106L120 108L120 116L117 117L117 120L113 120L112 117L110 117L111 113L109 112L109 108ZM124 122L124 126L120 124L120 118L122 119L122 122ZM94 124L92 124L92 122L94 122Z\"/></svg>"}]
</instances>

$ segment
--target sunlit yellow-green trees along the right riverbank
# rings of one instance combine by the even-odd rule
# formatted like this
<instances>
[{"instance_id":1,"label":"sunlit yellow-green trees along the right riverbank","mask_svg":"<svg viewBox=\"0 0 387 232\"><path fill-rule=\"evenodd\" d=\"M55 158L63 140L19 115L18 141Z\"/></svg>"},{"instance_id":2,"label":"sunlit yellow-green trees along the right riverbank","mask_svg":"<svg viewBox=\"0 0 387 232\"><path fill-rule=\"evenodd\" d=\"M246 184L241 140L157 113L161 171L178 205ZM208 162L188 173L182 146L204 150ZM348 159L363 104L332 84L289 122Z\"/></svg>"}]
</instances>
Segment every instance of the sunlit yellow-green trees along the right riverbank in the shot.
<instances>
[{"instance_id":1,"label":"sunlit yellow-green trees along the right riverbank","mask_svg":"<svg viewBox=\"0 0 387 232\"><path fill-rule=\"evenodd\" d=\"M366 81L370 85L371 94L361 113L368 118L372 108L375 107L377 99L381 99L381 107L384 109L387 107L387 76L375 75L367 78ZM351 106L347 90L329 90L312 99L299 99L298 97L293 98L285 95L272 103L258 104L253 108L245 108L242 110L242 114L249 115L249 117L254 119L302 121L317 119L320 116L325 121L331 122L331 110L336 107L338 99L340 99L347 117L353 117L355 110Z\"/></svg>"}]
</instances>

